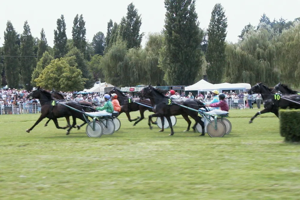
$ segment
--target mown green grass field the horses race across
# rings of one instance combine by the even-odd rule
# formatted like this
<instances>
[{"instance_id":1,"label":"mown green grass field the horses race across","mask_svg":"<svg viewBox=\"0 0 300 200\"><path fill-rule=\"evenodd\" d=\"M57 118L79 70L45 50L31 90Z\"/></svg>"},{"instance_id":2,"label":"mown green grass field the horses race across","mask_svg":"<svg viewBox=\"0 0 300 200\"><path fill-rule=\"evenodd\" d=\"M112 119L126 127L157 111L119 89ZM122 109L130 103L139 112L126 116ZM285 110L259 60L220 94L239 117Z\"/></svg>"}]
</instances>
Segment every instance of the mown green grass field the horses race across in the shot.
<instances>
[{"instance_id":1,"label":"mown green grass field the horses race across","mask_svg":"<svg viewBox=\"0 0 300 200\"><path fill-rule=\"evenodd\" d=\"M26 133L39 115L2 115L0 199L299 199L300 146L274 114L248 124L257 111L230 110L223 138L182 132L182 117L174 136L122 114L118 132L89 138L46 120Z\"/></svg>"}]
</instances>

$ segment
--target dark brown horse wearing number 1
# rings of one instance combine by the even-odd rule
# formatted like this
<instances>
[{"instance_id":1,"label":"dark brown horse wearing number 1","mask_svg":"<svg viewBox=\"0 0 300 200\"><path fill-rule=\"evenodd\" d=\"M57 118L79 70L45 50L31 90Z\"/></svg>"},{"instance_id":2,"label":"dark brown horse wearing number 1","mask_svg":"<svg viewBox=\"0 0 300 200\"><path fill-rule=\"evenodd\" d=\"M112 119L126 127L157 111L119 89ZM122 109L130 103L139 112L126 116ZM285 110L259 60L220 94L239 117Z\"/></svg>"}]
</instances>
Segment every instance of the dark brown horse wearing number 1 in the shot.
<instances>
[{"instance_id":1,"label":"dark brown horse wearing number 1","mask_svg":"<svg viewBox=\"0 0 300 200\"><path fill-rule=\"evenodd\" d=\"M113 88L111 91L108 92L108 94L113 94L116 93L118 95L118 101L120 103L121 106L121 112L119 114L121 114L122 112L125 112L128 120L130 122L132 121L136 121L134 122L133 126L137 125L137 123L139 123L140 121L142 121L145 117L144 117L144 112L146 110L153 112L152 108L146 107L146 106L142 106L140 104L134 103L133 101L137 101L140 103L143 103L147 106L151 106L151 101L149 99L141 99L140 97L137 98L131 98L131 102L129 102L129 97L126 97L125 94L123 94L122 91L118 90L116 87ZM131 119L130 117L130 112L134 112L134 111L140 111L140 115L141 117L137 117L136 119ZM152 124L157 124L156 122L152 121Z\"/></svg>"}]
</instances>

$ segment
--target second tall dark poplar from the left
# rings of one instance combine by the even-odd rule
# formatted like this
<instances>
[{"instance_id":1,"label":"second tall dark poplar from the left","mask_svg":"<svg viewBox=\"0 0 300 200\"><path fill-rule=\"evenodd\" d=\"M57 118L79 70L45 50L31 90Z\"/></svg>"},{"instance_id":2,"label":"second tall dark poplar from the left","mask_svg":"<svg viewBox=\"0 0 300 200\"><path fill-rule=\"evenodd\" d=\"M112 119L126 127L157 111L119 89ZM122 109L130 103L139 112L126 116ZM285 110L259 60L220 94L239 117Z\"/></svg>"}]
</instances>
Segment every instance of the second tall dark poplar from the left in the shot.
<instances>
[{"instance_id":1,"label":"second tall dark poplar from the left","mask_svg":"<svg viewBox=\"0 0 300 200\"><path fill-rule=\"evenodd\" d=\"M25 21L23 26L23 34L21 35L21 77L24 84L24 88L27 91L32 89L31 87L31 75L34 67L36 66L36 58L34 53L34 38L32 37L28 22Z\"/></svg>"}]
</instances>

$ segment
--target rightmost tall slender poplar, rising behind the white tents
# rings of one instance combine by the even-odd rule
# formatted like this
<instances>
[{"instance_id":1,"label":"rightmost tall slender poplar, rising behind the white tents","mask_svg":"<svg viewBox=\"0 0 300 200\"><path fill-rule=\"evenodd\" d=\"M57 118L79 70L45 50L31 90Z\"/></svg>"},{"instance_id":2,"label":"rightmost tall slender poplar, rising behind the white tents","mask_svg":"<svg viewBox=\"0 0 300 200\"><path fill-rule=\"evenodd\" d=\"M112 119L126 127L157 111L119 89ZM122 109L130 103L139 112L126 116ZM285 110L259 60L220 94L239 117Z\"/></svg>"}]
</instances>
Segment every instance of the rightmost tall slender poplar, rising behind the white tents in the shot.
<instances>
[{"instance_id":1,"label":"rightmost tall slender poplar, rising behind the white tents","mask_svg":"<svg viewBox=\"0 0 300 200\"><path fill-rule=\"evenodd\" d=\"M208 26L208 47L206 53L206 60L209 63L206 73L211 83L220 83L223 78L223 67L226 64L226 28L227 17L225 16L225 10L221 4L215 4Z\"/></svg>"}]
</instances>

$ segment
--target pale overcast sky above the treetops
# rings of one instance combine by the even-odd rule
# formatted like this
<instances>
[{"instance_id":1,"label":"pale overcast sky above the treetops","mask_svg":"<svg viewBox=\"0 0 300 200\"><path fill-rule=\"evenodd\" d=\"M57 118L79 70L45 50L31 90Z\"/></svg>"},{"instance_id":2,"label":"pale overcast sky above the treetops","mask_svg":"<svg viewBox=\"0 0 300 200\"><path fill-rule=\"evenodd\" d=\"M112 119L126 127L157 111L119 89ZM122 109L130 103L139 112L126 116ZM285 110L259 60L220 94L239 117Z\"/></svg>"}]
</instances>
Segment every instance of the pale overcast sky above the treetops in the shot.
<instances>
[{"instance_id":1,"label":"pale overcast sky above the treetops","mask_svg":"<svg viewBox=\"0 0 300 200\"><path fill-rule=\"evenodd\" d=\"M23 25L26 20L31 28L34 37L40 37L42 28L45 30L49 46L53 46L54 29L56 20L64 15L67 37L72 38L73 20L76 14L82 14L85 20L86 39L91 42L93 36L102 31L107 32L107 22L110 19L119 23L122 16L126 16L127 6L133 2L142 17L141 32L145 33L142 46L145 45L146 36L151 32L160 32L164 28L166 9L164 0L15 0L0 2L0 46L4 43L4 31L7 20L10 20L18 33L23 32ZM221 3L227 16L227 37L228 42L237 42L241 30L249 22L257 25L263 13L272 21L274 18L294 20L299 17L298 0L196 0L196 12L200 28L208 28L211 11L216 3Z\"/></svg>"}]
</instances>

